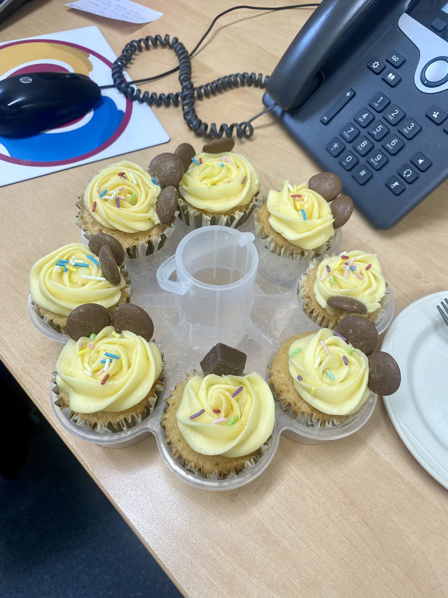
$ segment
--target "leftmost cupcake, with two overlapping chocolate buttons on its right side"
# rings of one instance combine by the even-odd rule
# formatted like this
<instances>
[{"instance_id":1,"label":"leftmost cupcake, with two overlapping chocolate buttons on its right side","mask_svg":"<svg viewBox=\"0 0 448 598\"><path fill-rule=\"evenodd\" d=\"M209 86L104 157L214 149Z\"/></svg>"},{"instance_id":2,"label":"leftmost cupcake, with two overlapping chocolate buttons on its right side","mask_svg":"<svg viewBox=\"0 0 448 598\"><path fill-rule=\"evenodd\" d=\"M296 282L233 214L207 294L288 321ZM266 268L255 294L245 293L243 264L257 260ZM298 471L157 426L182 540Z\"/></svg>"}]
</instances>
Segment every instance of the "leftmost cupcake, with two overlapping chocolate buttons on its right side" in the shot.
<instances>
[{"instance_id":1,"label":"leftmost cupcake, with two overlapping chocolate buttons on its right side","mask_svg":"<svg viewBox=\"0 0 448 598\"><path fill-rule=\"evenodd\" d=\"M57 332L66 334L67 316L83 303L96 303L112 312L129 300L122 269L124 252L106 234L89 246L69 243L36 261L30 271L32 308Z\"/></svg>"}]
</instances>

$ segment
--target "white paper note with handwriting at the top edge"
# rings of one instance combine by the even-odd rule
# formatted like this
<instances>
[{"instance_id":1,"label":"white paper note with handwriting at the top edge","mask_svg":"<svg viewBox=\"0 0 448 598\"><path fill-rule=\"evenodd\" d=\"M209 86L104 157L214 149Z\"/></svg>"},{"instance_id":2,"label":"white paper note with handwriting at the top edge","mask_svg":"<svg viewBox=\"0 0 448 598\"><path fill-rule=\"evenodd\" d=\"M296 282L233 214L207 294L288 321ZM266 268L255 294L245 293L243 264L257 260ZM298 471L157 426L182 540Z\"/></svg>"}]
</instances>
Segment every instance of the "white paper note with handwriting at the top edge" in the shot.
<instances>
[{"instance_id":1,"label":"white paper note with handwriting at the top edge","mask_svg":"<svg viewBox=\"0 0 448 598\"><path fill-rule=\"evenodd\" d=\"M163 16L163 13L131 0L78 0L66 6L127 23L151 23Z\"/></svg>"}]
</instances>

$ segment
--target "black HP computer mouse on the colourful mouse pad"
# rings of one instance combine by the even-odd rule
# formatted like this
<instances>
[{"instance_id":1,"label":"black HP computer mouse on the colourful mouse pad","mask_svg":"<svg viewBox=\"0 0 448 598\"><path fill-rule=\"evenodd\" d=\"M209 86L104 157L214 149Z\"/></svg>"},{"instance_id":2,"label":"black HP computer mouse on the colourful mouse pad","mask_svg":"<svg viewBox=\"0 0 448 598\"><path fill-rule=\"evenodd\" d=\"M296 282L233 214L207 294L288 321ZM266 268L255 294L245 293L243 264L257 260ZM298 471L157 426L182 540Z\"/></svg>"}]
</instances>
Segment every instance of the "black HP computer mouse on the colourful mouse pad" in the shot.
<instances>
[{"instance_id":1,"label":"black HP computer mouse on the colourful mouse pad","mask_svg":"<svg viewBox=\"0 0 448 598\"><path fill-rule=\"evenodd\" d=\"M36 72L0 81L0 135L23 137L78 118L101 95L85 75Z\"/></svg>"}]
</instances>

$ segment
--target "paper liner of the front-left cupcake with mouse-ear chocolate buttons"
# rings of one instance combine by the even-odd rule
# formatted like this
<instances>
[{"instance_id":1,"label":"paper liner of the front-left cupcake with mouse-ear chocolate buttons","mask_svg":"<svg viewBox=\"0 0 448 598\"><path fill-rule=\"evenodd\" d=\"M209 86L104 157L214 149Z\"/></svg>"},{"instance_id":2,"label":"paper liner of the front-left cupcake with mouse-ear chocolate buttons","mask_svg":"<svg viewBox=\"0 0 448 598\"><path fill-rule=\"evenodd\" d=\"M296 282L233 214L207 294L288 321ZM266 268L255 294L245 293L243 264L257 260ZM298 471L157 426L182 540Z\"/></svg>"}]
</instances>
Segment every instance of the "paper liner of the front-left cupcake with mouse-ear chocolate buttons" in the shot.
<instances>
[{"instance_id":1,"label":"paper liner of the front-left cupcake with mouse-ear chocolate buttons","mask_svg":"<svg viewBox=\"0 0 448 598\"><path fill-rule=\"evenodd\" d=\"M159 348L158 345L157 345L157 347ZM75 422L76 425L78 425L81 428L84 428L90 432L96 432L97 434L119 434L119 432L123 432L125 430L130 430L132 428L135 428L135 426L142 423L147 417L149 417L151 415L152 411L154 411L157 401L160 398L162 390L164 390L164 388L165 388L165 383L164 383L165 363L163 361L163 358L164 358L163 353L161 353L161 356L162 356L162 371L156 381L156 384L155 384L155 387L154 387L154 390L153 390L151 396L149 396L149 407L146 407L146 410L143 411L143 413L140 414L140 416L137 416L136 414L131 414L130 420L127 417L122 417L122 419L117 419L116 426L114 426L112 424L112 422L109 422L106 426L103 425L102 422L90 425L87 422L87 420L82 418L82 416L80 414L77 414L74 411L72 411L70 409L70 407L64 407L62 405L62 403L59 401L59 399L54 401L54 404L56 405L56 407L60 408L62 413L66 416L66 418L70 422ZM57 376L57 372L54 371L53 375L52 375L51 382L54 383L54 387L53 387L54 394L59 396L59 388L56 384L56 376Z\"/></svg>"}]
</instances>

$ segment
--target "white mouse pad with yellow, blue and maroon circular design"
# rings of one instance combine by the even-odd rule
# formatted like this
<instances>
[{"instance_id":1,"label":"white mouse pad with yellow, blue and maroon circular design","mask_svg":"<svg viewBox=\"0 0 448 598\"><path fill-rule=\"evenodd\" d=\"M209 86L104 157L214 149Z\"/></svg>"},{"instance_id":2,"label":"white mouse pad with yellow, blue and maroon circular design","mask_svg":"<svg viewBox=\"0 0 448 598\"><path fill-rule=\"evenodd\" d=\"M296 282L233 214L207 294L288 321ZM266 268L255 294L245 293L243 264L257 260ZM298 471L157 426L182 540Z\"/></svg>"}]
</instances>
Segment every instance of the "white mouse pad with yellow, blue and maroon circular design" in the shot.
<instances>
[{"instance_id":1,"label":"white mouse pad with yellow, blue and maroon circular design","mask_svg":"<svg viewBox=\"0 0 448 598\"><path fill-rule=\"evenodd\" d=\"M0 45L0 79L67 71L109 85L115 58L94 26L17 39ZM169 139L149 106L131 102L116 89L105 89L90 112L70 123L29 137L0 135L0 187Z\"/></svg>"}]
</instances>

